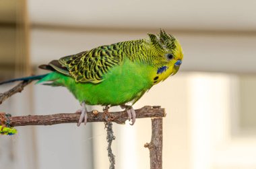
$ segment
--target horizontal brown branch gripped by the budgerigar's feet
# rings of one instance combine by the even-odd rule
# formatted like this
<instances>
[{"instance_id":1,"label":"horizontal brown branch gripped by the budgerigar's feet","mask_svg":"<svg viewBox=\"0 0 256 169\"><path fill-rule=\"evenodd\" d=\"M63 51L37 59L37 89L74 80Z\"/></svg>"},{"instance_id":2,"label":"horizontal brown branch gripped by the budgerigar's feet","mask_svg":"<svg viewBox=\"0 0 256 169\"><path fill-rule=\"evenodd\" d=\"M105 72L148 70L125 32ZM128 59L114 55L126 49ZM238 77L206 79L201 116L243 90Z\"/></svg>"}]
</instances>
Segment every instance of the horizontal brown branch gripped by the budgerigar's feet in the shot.
<instances>
[{"instance_id":1,"label":"horizontal brown branch gripped by the budgerigar's feet","mask_svg":"<svg viewBox=\"0 0 256 169\"><path fill-rule=\"evenodd\" d=\"M88 112L88 122L104 122L103 112L96 110ZM164 117L166 113L164 108L160 106L143 106L135 110L136 119L138 118L154 118ZM124 124L128 119L127 112L110 112L113 117L113 122L118 124ZM28 115L28 116L11 116L9 117L11 127L15 126L27 126L27 125L57 125L61 123L77 123L79 120L80 113L61 113L61 114L50 114L50 115ZM3 125L3 124L2 124Z\"/></svg>"}]
</instances>

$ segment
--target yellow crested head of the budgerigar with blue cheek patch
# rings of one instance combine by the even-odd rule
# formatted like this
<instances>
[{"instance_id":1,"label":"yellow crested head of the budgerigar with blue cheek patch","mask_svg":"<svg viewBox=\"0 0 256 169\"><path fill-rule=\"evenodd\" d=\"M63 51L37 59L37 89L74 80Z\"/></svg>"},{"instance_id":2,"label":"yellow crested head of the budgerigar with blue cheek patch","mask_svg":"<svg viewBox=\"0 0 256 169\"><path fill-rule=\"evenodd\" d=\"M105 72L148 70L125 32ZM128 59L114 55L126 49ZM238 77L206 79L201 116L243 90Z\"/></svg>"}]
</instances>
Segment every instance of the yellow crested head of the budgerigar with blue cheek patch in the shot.
<instances>
[{"instance_id":1,"label":"yellow crested head of the budgerigar with blue cheek patch","mask_svg":"<svg viewBox=\"0 0 256 169\"><path fill-rule=\"evenodd\" d=\"M148 34L151 44L154 48L155 66L162 79L166 79L170 75L174 75L179 70L183 61L183 50L179 41L170 34L166 34L164 30L160 30L157 35Z\"/></svg>"}]
</instances>

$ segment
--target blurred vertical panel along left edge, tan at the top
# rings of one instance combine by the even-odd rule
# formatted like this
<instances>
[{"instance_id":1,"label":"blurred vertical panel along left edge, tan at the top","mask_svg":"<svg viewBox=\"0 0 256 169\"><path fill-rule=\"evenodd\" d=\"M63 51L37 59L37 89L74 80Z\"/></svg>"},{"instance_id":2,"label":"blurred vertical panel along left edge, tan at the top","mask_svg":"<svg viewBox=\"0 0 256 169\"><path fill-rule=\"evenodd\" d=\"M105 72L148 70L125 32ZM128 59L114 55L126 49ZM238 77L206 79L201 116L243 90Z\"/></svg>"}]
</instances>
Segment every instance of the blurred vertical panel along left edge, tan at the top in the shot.
<instances>
[{"instance_id":1,"label":"blurred vertical panel along left edge, tan at the top","mask_svg":"<svg viewBox=\"0 0 256 169\"><path fill-rule=\"evenodd\" d=\"M24 0L0 1L0 80L30 74L29 23ZM13 84L3 85L5 92ZM32 88L1 104L0 112L13 116L33 114ZM15 106L13 106L15 105ZM21 135L20 135L21 134ZM16 139L19 138L19 139ZM37 168L33 127L19 129L17 137L0 137L0 165L3 168Z\"/></svg>"}]
</instances>

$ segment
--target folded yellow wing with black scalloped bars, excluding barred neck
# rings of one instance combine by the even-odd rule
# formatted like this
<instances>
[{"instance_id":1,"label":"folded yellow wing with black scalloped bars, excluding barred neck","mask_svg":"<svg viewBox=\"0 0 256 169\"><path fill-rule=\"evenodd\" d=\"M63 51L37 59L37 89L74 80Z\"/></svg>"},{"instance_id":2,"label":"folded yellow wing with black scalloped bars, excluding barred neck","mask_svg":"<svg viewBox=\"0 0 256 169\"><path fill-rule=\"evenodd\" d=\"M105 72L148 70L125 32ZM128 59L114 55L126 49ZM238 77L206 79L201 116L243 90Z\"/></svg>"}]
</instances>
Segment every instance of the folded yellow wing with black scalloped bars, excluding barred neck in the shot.
<instances>
[{"instance_id":1,"label":"folded yellow wing with black scalloped bars, excluding barred neck","mask_svg":"<svg viewBox=\"0 0 256 169\"><path fill-rule=\"evenodd\" d=\"M99 83L105 73L115 65L120 65L122 61L123 51L117 44L112 44L63 57L59 59L59 65L49 65L61 73L70 75L77 82Z\"/></svg>"}]
</instances>

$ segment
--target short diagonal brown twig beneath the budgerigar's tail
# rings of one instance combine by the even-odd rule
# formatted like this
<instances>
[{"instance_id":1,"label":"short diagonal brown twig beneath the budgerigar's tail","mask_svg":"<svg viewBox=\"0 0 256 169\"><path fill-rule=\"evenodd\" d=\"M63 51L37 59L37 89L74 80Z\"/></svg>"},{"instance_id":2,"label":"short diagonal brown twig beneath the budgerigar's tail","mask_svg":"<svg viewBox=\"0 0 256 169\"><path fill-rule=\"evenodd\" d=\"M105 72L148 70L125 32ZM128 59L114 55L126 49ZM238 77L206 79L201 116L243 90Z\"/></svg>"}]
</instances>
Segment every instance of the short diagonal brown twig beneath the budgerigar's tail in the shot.
<instances>
[{"instance_id":1,"label":"short diagonal brown twig beneath the budgerigar's tail","mask_svg":"<svg viewBox=\"0 0 256 169\"><path fill-rule=\"evenodd\" d=\"M7 92L0 94L0 104L2 104L7 98L11 97L13 94L22 92L22 90L24 90L24 87L27 86L31 82L32 82L31 80L22 81L22 82L18 83L17 86L14 86Z\"/></svg>"}]
</instances>

